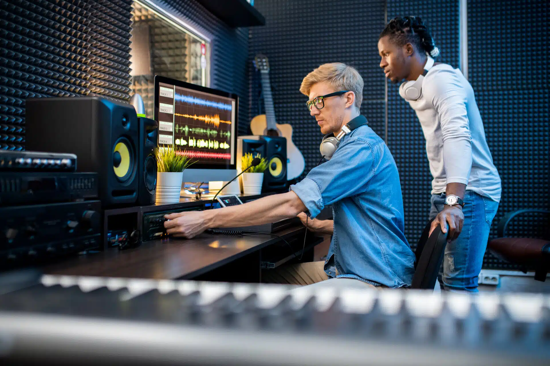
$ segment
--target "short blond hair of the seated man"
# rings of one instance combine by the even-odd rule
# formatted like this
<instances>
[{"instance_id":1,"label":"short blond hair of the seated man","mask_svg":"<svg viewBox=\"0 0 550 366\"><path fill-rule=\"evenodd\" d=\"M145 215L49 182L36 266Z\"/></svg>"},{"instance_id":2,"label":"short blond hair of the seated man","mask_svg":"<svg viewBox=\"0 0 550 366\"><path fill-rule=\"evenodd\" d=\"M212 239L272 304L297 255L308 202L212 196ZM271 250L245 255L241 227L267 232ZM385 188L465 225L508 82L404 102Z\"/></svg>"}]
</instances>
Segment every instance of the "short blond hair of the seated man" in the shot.
<instances>
[{"instance_id":1,"label":"short blond hair of the seated man","mask_svg":"<svg viewBox=\"0 0 550 366\"><path fill-rule=\"evenodd\" d=\"M300 92L309 97L311 87L318 82L327 81L335 92L349 90L355 93L355 106L361 108L363 100L363 78L359 72L351 66L341 62L323 64L304 77Z\"/></svg>"}]
</instances>

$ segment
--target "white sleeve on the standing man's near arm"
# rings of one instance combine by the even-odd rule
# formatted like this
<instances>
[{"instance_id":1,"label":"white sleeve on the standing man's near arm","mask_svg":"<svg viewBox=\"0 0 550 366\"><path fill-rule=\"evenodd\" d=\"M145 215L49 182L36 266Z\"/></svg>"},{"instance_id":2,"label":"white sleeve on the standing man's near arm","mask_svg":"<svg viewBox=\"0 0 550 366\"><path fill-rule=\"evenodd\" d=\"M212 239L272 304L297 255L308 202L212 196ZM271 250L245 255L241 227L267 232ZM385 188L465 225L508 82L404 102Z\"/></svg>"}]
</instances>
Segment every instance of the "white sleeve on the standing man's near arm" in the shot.
<instances>
[{"instance_id":1,"label":"white sleeve on the standing man's near arm","mask_svg":"<svg viewBox=\"0 0 550 366\"><path fill-rule=\"evenodd\" d=\"M438 70L426 77L426 97L439 116L443 137L443 165L447 184L468 184L472 167L472 137L466 109L466 90L454 70ZM429 100L429 99L428 99Z\"/></svg>"}]
</instances>

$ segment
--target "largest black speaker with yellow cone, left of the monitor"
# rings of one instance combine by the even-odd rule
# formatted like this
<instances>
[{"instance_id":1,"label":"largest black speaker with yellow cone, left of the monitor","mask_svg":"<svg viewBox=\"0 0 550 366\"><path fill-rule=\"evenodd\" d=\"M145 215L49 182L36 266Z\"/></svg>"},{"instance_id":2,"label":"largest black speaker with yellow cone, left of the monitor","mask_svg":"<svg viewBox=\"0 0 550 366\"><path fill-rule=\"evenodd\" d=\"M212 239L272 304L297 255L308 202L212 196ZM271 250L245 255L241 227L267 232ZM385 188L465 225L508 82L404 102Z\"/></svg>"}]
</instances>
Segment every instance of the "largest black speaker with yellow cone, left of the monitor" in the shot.
<instances>
[{"instance_id":1,"label":"largest black speaker with yellow cone, left of the monitor","mask_svg":"<svg viewBox=\"0 0 550 366\"><path fill-rule=\"evenodd\" d=\"M139 125L130 104L101 97L26 100L25 148L76 154L76 171L97 172L103 206L138 200Z\"/></svg>"}]
</instances>

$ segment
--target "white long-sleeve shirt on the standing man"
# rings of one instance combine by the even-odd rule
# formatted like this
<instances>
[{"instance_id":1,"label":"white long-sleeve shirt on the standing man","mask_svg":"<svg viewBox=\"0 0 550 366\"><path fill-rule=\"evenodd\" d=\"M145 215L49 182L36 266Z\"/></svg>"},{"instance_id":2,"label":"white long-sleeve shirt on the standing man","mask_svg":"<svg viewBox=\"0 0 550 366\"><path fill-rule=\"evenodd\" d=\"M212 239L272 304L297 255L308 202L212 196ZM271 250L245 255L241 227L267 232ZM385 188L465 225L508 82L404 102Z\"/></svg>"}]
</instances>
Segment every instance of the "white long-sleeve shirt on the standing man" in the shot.
<instances>
[{"instance_id":1,"label":"white long-sleeve shirt on the standing man","mask_svg":"<svg viewBox=\"0 0 550 366\"><path fill-rule=\"evenodd\" d=\"M408 102L426 138L432 194L445 192L448 183L464 183L467 190L499 202L500 177L474 89L462 72L447 64L434 65L424 77L420 98Z\"/></svg>"}]
</instances>

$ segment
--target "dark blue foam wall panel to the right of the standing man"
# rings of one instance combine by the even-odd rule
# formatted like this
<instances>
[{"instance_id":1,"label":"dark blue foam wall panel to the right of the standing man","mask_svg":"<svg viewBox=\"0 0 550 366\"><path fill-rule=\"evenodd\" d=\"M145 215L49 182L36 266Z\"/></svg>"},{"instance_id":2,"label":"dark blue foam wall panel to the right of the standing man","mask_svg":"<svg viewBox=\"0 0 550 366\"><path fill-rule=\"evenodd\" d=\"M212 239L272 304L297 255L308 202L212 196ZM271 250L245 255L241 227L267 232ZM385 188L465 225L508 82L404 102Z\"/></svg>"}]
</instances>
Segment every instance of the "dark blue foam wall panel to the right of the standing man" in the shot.
<instances>
[{"instance_id":1,"label":"dark blue foam wall panel to the right of the standing man","mask_svg":"<svg viewBox=\"0 0 550 366\"><path fill-rule=\"evenodd\" d=\"M502 179L493 238L505 213L550 209L549 15L544 0L468 1L468 74ZM521 216L508 234L548 239L548 215ZM483 266L517 269L488 253Z\"/></svg>"}]
</instances>

